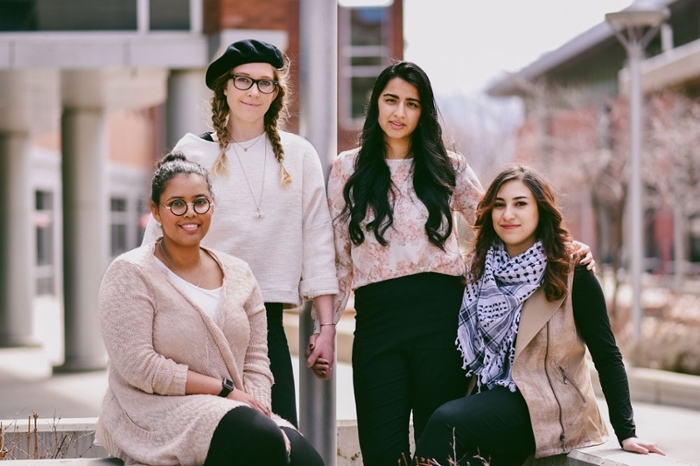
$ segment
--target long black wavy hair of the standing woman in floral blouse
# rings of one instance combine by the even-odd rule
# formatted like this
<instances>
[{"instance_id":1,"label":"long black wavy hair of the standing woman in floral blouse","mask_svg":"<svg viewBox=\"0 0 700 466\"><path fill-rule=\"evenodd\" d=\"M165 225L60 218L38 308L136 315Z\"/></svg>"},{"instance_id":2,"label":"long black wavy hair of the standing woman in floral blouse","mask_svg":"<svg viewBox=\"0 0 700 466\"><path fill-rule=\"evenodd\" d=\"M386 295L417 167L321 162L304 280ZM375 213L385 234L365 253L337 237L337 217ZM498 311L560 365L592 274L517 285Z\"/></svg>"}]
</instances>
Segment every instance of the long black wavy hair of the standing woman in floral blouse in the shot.
<instances>
[{"instance_id":1,"label":"long black wavy hair of the standing woman in floral blouse","mask_svg":"<svg viewBox=\"0 0 700 466\"><path fill-rule=\"evenodd\" d=\"M388 66L374 83L360 135L355 171L343 190L345 209L341 216L349 218L350 239L353 244L360 245L365 240L360 224L371 209L375 216L367 223L367 231L374 233L379 244L388 244L384 234L394 222L394 212L389 202L389 191L394 187L385 160L387 146L384 132L379 126L379 98L389 81L395 78L412 84L418 90L421 114L411 134L410 147L413 155L413 188L428 210L428 220L425 222L428 240L444 249L453 228L450 197L455 187L455 169L442 141L442 128L430 80L418 65L411 62Z\"/></svg>"}]
</instances>

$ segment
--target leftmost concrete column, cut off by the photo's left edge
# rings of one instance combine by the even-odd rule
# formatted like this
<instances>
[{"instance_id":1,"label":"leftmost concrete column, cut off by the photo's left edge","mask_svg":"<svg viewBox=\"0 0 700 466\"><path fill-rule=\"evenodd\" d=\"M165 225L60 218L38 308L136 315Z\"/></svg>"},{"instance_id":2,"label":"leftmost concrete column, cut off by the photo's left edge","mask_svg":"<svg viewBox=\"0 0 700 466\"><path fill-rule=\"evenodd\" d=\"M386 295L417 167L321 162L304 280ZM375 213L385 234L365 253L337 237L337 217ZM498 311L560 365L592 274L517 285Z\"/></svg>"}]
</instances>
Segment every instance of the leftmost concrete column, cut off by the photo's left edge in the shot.
<instances>
[{"instance_id":1,"label":"leftmost concrete column, cut off by the photo's left edge","mask_svg":"<svg viewBox=\"0 0 700 466\"><path fill-rule=\"evenodd\" d=\"M37 343L29 142L28 132L0 131L0 347Z\"/></svg>"}]
</instances>

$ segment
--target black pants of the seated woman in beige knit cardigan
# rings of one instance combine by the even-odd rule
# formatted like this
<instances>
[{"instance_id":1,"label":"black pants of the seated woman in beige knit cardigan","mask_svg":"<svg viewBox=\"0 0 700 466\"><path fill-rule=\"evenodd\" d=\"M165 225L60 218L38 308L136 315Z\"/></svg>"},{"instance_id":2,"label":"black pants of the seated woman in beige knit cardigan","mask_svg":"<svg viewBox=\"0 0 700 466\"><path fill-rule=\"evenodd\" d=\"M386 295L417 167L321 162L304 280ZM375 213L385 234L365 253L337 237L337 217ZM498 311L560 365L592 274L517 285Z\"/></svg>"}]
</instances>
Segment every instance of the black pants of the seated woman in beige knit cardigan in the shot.
<instances>
[{"instance_id":1,"label":"black pants of the seated woman in beige knit cardigan","mask_svg":"<svg viewBox=\"0 0 700 466\"><path fill-rule=\"evenodd\" d=\"M291 456L282 430L292 445ZM278 427L269 417L247 406L234 408L219 421L204 466L323 466L323 459L299 432Z\"/></svg>"}]
</instances>

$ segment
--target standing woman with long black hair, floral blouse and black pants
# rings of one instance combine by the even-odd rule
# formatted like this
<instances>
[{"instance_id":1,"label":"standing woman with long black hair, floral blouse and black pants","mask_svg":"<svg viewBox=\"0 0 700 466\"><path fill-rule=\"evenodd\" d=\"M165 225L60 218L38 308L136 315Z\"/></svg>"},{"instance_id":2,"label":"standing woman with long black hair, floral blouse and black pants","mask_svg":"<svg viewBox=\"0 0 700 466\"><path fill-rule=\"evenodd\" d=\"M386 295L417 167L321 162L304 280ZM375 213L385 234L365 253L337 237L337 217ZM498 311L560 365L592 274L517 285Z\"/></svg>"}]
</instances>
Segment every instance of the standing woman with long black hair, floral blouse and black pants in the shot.
<instances>
[{"instance_id":1,"label":"standing woman with long black hair, floral blouse and black pants","mask_svg":"<svg viewBox=\"0 0 700 466\"><path fill-rule=\"evenodd\" d=\"M452 211L473 214L482 188L443 144L430 80L400 62L377 78L360 147L333 164L328 183L340 293L355 290L352 366L366 466L409 457L442 403L466 378L454 347L464 263Z\"/></svg>"}]
</instances>

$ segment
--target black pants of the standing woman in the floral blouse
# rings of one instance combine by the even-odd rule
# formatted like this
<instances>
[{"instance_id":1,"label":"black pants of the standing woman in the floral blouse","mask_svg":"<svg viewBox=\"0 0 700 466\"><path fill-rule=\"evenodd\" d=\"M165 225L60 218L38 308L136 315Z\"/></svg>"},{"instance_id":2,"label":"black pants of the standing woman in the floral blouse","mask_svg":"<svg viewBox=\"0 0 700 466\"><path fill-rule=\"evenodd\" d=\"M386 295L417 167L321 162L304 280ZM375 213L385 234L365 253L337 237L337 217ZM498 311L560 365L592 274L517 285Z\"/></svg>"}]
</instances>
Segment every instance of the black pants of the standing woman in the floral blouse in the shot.
<instances>
[{"instance_id":1,"label":"black pants of the standing woman in the floral blouse","mask_svg":"<svg viewBox=\"0 0 700 466\"><path fill-rule=\"evenodd\" d=\"M355 291L352 367L365 466L410 459L411 412L418 439L435 409L464 396L467 379L455 346L463 292L460 277L435 273Z\"/></svg>"}]
</instances>

